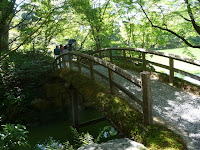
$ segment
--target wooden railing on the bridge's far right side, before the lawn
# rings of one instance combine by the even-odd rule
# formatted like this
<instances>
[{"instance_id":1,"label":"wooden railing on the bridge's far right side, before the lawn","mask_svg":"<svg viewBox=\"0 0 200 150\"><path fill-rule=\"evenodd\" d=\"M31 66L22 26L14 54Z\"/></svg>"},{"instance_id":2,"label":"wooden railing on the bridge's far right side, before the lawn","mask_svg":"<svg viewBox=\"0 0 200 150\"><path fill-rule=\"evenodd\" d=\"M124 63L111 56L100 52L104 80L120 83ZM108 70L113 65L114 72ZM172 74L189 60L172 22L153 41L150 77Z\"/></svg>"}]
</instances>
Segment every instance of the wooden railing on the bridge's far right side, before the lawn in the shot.
<instances>
[{"instance_id":1,"label":"wooden railing on the bridge's far right side, before the lawn","mask_svg":"<svg viewBox=\"0 0 200 150\"><path fill-rule=\"evenodd\" d=\"M113 54L113 52L116 52L116 51L121 51L122 56L115 56ZM107 55L105 55L105 52L107 52ZM142 58L140 59L140 58L136 58L136 57L132 56L131 52L141 53ZM146 58L147 54L157 55L157 56L161 56L163 58L168 58L169 65L149 61ZM148 64L152 64L152 65L167 69L167 70L169 70L169 82L171 82L171 83L174 82L175 72L200 81L199 76L174 67L174 60L178 60L178 61L181 61L181 62L184 62L187 64L192 64L194 66L197 66L200 69L200 60L193 60L190 58L186 58L186 57L182 57L182 56L178 56L178 55L174 55L174 54L167 54L167 53L158 52L158 51L150 51L150 50L136 49L136 48L106 48L106 49L101 49L98 51L93 51L93 52L89 53L89 55L96 55L99 58L109 57L110 62L113 61L114 57L122 57L124 59L124 63L126 63L128 59L140 61L143 64L143 71L146 70Z\"/></svg>"}]
</instances>

